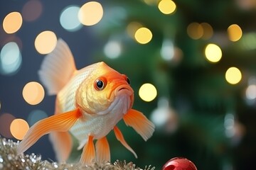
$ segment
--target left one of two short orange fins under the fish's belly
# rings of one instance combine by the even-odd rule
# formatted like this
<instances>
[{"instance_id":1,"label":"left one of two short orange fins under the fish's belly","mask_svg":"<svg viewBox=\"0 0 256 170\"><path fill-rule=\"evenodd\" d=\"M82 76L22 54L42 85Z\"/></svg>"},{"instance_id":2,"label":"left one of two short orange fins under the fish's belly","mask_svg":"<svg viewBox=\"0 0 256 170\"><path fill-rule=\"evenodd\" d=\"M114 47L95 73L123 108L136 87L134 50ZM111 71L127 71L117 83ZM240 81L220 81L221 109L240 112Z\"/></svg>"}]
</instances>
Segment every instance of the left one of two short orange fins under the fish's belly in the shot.
<instances>
[{"instance_id":1,"label":"left one of two short orange fins under the fish's belly","mask_svg":"<svg viewBox=\"0 0 256 170\"><path fill-rule=\"evenodd\" d=\"M85 147L82 149L82 155L80 158L80 163L82 164L91 164L92 160L95 159L95 146L93 144L93 137L88 137L88 142Z\"/></svg>"}]
</instances>

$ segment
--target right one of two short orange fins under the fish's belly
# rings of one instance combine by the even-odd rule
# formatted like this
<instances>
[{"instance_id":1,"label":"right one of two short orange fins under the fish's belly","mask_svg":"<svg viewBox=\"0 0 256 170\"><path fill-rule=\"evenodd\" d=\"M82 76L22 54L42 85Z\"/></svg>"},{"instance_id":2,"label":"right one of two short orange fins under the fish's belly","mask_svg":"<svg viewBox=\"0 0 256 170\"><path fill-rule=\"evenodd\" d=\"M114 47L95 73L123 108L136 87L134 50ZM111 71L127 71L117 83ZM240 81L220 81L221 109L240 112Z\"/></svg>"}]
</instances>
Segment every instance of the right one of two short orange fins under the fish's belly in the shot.
<instances>
[{"instance_id":1,"label":"right one of two short orange fins under the fish's belly","mask_svg":"<svg viewBox=\"0 0 256 170\"><path fill-rule=\"evenodd\" d=\"M102 137L96 142L96 158L97 162L110 162L110 145L107 142L107 137Z\"/></svg>"}]
</instances>

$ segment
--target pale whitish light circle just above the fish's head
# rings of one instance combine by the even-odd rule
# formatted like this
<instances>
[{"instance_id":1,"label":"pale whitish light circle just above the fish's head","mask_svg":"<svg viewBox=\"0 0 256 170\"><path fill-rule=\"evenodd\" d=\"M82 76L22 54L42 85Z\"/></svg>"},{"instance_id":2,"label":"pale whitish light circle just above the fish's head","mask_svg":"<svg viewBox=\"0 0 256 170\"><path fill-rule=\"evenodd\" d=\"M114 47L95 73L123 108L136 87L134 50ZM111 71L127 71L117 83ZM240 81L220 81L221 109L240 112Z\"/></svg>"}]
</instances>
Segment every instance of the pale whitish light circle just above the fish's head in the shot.
<instances>
[{"instance_id":1,"label":"pale whitish light circle just above the fish's head","mask_svg":"<svg viewBox=\"0 0 256 170\"><path fill-rule=\"evenodd\" d=\"M107 57L114 59L119 57L122 52L121 43L117 40L110 40L104 47L104 53Z\"/></svg>"}]
</instances>

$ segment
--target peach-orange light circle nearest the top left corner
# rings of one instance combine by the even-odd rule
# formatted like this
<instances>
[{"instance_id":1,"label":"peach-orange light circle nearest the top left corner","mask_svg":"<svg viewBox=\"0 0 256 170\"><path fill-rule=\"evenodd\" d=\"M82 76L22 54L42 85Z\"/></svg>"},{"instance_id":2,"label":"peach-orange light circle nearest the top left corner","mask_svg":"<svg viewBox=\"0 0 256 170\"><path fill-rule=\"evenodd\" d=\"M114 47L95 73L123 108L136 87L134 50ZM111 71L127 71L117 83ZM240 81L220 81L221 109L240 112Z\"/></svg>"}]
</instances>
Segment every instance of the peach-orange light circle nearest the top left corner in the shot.
<instances>
[{"instance_id":1,"label":"peach-orange light circle nearest the top left corner","mask_svg":"<svg viewBox=\"0 0 256 170\"><path fill-rule=\"evenodd\" d=\"M9 13L3 21L3 28L6 33L16 33L16 31L21 28L22 16L21 13L11 12Z\"/></svg>"}]
</instances>

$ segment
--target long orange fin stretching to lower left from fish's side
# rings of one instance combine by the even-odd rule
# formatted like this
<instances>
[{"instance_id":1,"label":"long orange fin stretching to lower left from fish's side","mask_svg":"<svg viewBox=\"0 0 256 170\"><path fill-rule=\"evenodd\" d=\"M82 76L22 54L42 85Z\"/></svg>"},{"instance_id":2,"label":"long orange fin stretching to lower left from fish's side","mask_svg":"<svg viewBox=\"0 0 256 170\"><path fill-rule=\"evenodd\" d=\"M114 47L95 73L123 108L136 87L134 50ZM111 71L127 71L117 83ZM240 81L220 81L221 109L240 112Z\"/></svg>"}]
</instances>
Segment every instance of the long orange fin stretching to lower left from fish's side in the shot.
<instances>
[{"instance_id":1,"label":"long orange fin stretching to lower left from fish's side","mask_svg":"<svg viewBox=\"0 0 256 170\"><path fill-rule=\"evenodd\" d=\"M25 152L31 147L40 137L49 132L66 132L68 131L82 114L79 109L52 115L35 123L26 133L25 137L18 145L17 154Z\"/></svg>"}]
</instances>

